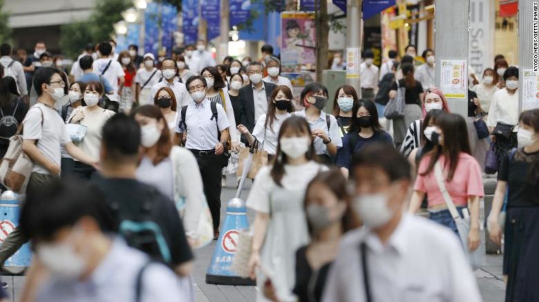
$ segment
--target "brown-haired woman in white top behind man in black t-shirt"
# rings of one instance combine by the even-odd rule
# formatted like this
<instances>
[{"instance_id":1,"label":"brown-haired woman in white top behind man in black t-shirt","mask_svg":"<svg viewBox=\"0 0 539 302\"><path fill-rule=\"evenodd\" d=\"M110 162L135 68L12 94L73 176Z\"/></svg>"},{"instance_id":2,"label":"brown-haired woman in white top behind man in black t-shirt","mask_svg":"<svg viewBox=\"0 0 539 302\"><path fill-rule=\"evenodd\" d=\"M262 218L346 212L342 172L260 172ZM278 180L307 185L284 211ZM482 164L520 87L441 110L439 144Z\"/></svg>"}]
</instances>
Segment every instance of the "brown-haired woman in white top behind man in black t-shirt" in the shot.
<instances>
[{"instance_id":1,"label":"brown-haired woman in white top behind man in black t-shirt","mask_svg":"<svg viewBox=\"0 0 539 302\"><path fill-rule=\"evenodd\" d=\"M156 106L136 108L132 116L141 125L144 148L137 179L155 186L181 206L185 234L191 246L198 247L198 222L207 204L195 156L172 145L167 122Z\"/></svg>"}]
</instances>

